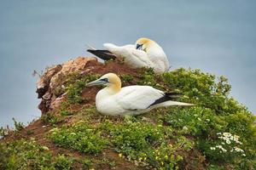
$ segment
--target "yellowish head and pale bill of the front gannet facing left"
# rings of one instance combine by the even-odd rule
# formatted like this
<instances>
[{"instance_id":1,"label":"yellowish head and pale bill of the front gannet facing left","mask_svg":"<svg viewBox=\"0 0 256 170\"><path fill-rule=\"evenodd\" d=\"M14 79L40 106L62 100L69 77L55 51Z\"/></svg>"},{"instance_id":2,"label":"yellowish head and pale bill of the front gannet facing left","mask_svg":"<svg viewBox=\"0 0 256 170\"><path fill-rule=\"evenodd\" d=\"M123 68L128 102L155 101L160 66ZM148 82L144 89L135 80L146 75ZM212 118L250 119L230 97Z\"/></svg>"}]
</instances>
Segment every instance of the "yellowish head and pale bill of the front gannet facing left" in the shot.
<instances>
[{"instance_id":1,"label":"yellowish head and pale bill of the front gannet facing left","mask_svg":"<svg viewBox=\"0 0 256 170\"><path fill-rule=\"evenodd\" d=\"M113 92L119 92L121 89L121 80L114 73L108 73L97 79L96 81L89 82L86 87L104 85L111 89Z\"/></svg>"}]
</instances>

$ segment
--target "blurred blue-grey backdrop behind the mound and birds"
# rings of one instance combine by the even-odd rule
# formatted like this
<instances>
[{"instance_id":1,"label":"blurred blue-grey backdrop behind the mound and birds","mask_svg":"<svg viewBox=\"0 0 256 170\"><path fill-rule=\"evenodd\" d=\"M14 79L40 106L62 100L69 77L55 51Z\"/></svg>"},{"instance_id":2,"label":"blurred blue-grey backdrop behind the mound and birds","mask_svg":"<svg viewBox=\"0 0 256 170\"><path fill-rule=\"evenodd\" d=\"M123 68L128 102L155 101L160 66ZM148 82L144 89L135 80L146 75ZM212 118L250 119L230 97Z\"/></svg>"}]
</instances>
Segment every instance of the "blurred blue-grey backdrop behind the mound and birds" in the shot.
<instances>
[{"instance_id":1,"label":"blurred blue-grey backdrop behind the mound and birds","mask_svg":"<svg viewBox=\"0 0 256 170\"><path fill-rule=\"evenodd\" d=\"M256 112L256 1L0 1L0 127L40 116L32 71L150 37L172 69L229 78L231 95Z\"/></svg>"}]
</instances>

